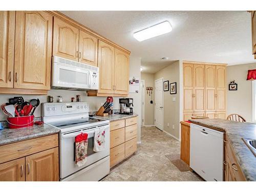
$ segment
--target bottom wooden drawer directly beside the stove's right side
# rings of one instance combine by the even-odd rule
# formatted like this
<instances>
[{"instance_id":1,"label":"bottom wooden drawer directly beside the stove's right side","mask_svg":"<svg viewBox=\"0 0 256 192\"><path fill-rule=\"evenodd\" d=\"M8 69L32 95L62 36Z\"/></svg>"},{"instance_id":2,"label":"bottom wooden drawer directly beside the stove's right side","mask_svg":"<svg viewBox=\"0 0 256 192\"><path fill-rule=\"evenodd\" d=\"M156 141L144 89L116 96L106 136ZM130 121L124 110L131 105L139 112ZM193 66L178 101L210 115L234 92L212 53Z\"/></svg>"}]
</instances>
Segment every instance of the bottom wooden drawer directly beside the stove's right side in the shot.
<instances>
[{"instance_id":1,"label":"bottom wooden drawer directly beside the stove's right side","mask_svg":"<svg viewBox=\"0 0 256 192\"><path fill-rule=\"evenodd\" d=\"M110 149L110 167L124 159L124 143Z\"/></svg>"}]
</instances>

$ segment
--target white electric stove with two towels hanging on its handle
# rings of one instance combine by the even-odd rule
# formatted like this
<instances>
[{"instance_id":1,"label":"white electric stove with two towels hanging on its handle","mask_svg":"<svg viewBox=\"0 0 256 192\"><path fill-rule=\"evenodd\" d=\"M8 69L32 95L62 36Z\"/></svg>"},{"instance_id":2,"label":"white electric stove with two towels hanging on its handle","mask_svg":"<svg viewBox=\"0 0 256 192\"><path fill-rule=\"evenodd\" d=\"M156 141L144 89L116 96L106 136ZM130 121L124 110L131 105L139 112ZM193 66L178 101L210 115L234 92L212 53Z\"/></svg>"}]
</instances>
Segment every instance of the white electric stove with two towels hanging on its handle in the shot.
<instances>
[{"instance_id":1,"label":"white electric stove with two towels hanging on its handle","mask_svg":"<svg viewBox=\"0 0 256 192\"><path fill-rule=\"evenodd\" d=\"M98 181L110 172L110 122L89 117L87 102L43 103L42 120L60 130L59 162L61 181ZM93 151L94 130L105 127L105 149ZM88 134L86 164L75 164L75 137Z\"/></svg>"}]
</instances>

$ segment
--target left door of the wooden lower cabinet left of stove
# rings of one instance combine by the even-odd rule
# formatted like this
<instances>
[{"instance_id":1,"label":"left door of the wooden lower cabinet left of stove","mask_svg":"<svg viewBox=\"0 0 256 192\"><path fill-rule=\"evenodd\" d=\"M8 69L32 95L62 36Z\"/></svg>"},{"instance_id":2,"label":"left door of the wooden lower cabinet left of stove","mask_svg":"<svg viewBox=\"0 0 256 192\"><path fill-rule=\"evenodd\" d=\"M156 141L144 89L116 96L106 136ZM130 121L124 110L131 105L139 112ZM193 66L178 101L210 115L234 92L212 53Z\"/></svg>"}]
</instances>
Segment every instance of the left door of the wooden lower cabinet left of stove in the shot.
<instances>
[{"instance_id":1,"label":"left door of the wooden lower cabinet left of stove","mask_svg":"<svg viewBox=\"0 0 256 192\"><path fill-rule=\"evenodd\" d=\"M25 158L0 164L0 181L25 181Z\"/></svg>"}]
</instances>

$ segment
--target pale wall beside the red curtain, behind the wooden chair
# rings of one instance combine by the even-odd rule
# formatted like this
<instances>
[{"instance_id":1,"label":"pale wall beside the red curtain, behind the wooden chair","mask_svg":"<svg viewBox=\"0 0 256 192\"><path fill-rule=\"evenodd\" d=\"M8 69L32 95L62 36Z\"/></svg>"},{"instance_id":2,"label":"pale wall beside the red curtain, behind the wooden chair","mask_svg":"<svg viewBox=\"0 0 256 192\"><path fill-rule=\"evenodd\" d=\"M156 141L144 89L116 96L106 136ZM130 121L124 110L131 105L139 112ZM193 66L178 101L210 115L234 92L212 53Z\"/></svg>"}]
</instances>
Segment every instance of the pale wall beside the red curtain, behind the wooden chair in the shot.
<instances>
[{"instance_id":1,"label":"pale wall beside the red curtain, behind the wooden chair","mask_svg":"<svg viewBox=\"0 0 256 192\"><path fill-rule=\"evenodd\" d=\"M256 69L256 63L227 66L227 111L226 115L237 113L246 121L252 121L252 92L251 81L247 81L248 70ZM228 84L235 80L238 91L229 91Z\"/></svg>"}]
</instances>

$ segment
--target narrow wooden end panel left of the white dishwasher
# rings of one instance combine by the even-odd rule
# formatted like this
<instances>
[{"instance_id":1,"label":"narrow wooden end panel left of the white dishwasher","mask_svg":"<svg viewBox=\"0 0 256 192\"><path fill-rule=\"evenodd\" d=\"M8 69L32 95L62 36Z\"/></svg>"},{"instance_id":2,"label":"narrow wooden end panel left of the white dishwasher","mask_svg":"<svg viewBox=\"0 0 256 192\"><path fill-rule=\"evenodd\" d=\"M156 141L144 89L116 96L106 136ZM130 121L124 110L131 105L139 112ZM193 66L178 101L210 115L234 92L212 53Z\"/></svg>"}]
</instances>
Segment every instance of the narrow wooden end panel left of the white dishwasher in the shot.
<instances>
[{"instance_id":1,"label":"narrow wooden end panel left of the white dishwasher","mask_svg":"<svg viewBox=\"0 0 256 192\"><path fill-rule=\"evenodd\" d=\"M190 158L190 124L181 121L180 159L189 165Z\"/></svg>"}]
</instances>

